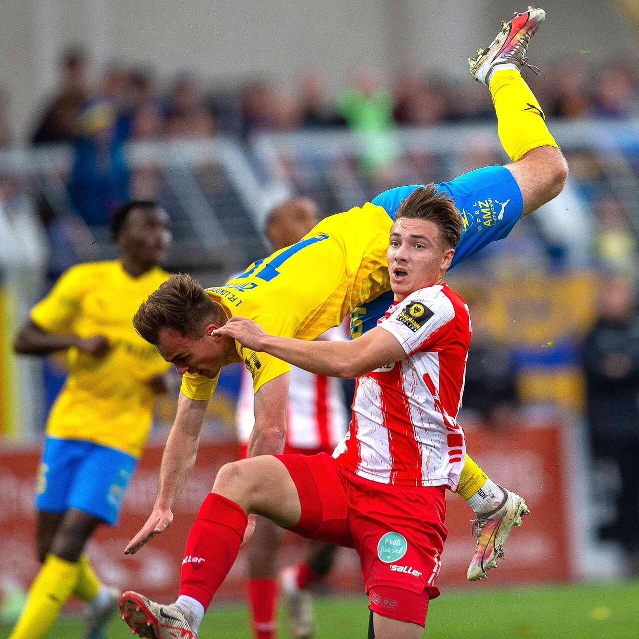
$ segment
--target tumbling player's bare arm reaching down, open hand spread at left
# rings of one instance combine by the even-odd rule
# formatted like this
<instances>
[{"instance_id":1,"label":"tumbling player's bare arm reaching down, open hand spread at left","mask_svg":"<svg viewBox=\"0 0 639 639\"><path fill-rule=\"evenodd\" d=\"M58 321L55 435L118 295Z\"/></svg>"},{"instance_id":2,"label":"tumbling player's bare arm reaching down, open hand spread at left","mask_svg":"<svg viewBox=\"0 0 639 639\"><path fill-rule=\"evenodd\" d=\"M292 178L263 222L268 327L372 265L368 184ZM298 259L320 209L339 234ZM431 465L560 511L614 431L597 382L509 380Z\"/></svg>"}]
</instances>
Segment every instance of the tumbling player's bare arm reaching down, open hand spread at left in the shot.
<instances>
[{"instance_id":1,"label":"tumbling player's bare arm reaching down, open hand spread at left","mask_svg":"<svg viewBox=\"0 0 639 639\"><path fill-rule=\"evenodd\" d=\"M125 555L133 555L155 535L171 525L173 504L180 497L184 484L196 463L199 435L207 404L208 401L189 399L180 393L178 413L162 455L158 496L153 505L153 512L140 532L125 548Z\"/></svg>"}]
</instances>

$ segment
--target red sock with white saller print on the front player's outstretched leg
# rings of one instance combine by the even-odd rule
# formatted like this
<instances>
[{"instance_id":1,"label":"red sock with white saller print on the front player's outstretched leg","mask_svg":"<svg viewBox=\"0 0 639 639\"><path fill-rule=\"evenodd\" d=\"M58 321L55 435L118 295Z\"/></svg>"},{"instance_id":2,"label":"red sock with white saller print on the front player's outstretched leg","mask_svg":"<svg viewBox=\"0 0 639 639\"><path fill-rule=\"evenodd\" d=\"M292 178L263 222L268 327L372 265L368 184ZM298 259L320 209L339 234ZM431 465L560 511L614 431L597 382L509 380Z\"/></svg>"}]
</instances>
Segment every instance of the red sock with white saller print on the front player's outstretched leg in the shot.
<instances>
[{"instance_id":1,"label":"red sock with white saller print on the front player's outstretched leg","mask_svg":"<svg viewBox=\"0 0 639 639\"><path fill-rule=\"evenodd\" d=\"M208 608L238 556L246 524L246 513L235 502L216 493L206 496L187 539L181 595L193 597Z\"/></svg>"}]
</instances>

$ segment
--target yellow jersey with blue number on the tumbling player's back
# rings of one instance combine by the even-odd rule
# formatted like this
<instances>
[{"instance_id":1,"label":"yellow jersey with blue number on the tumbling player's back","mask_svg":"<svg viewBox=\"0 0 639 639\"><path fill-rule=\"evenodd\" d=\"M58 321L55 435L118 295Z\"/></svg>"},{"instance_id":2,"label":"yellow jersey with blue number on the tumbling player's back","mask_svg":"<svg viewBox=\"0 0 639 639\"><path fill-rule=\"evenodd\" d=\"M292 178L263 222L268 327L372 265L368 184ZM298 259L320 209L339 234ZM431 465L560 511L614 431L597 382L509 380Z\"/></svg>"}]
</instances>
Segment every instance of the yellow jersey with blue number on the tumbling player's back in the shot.
<instances>
[{"instance_id":1,"label":"yellow jersey with blue number on the tumbling player's back","mask_svg":"<svg viewBox=\"0 0 639 639\"><path fill-rule=\"evenodd\" d=\"M300 242L207 289L208 295L227 316L252 319L270 334L316 339L355 307L390 290L386 251L392 223L381 206L371 203L331 215ZM267 353L237 343L236 348L252 374L254 392L290 369ZM216 383L185 373L181 392L190 399L210 399Z\"/></svg>"}]
</instances>

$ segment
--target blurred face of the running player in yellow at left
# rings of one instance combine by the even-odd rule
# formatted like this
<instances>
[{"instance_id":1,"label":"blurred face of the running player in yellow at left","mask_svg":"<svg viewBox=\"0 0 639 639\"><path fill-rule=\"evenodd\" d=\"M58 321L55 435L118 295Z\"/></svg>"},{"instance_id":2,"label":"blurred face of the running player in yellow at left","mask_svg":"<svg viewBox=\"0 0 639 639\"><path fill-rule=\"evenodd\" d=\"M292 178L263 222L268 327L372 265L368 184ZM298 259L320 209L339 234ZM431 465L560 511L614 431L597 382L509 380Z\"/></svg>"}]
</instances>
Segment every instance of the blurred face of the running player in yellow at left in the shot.
<instances>
[{"instance_id":1,"label":"blurred face of the running player in yellow at left","mask_svg":"<svg viewBox=\"0 0 639 639\"><path fill-rule=\"evenodd\" d=\"M119 244L127 256L142 266L161 264L173 240L168 213L160 206L136 208L127 216Z\"/></svg>"}]
</instances>

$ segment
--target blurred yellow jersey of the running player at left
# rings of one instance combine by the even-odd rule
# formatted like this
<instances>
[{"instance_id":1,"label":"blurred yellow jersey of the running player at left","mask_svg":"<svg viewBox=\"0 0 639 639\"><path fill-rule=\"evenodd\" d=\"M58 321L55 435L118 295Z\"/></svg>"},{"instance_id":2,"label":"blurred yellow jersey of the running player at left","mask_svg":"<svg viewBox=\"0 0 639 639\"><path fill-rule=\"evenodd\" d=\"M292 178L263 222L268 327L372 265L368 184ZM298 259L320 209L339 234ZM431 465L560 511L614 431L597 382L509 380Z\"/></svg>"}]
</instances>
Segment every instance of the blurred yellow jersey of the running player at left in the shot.
<instances>
[{"instance_id":1,"label":"blurred yellow jersey of the running player at left","mask_svg":"<svg viewBox=\"0 0 639 639\"><path fill-rule=\"evenodd\" d=\"M159 267L132 277L121 261L80 264L33 308L31 319L47 333L104 335L110 346L101 359L66 351L68 378L49 413L48 435L141 454L155 400L148 380L170 365L135 332L132 318L168 277Z\"/></svg>"}]
</instances>

